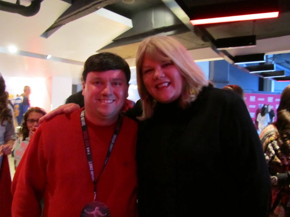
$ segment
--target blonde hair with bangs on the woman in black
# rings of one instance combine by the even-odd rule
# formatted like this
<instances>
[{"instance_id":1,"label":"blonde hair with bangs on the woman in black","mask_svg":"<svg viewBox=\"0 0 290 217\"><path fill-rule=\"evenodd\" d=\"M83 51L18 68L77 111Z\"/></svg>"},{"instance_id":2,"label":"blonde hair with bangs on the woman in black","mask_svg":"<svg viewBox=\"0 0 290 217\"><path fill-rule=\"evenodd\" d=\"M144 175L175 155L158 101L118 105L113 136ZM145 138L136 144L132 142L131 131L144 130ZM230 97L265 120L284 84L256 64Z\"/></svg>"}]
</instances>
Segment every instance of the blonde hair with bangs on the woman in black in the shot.
<instances>
[{"instance_id":1,"label":"blonde hair with bangs on the woman in black","mask_svg":"<svg viewBox=\"0 0 290 217\"><path fill-rule=\"evenodd\" d=\"M179 105L185 108L193 102L202 87L207 86L204 73L193 61L186 48L170 36L152 36L145 38L138 47L136 54L136 71L138 92L142 100L143 114L140 120L145 120L154 112L156 100L147 91L142 77L142 65L144 56L149 55L153 60L162 62L171 60L177 67L185 81Z\"/></svg>"}]
</instances>

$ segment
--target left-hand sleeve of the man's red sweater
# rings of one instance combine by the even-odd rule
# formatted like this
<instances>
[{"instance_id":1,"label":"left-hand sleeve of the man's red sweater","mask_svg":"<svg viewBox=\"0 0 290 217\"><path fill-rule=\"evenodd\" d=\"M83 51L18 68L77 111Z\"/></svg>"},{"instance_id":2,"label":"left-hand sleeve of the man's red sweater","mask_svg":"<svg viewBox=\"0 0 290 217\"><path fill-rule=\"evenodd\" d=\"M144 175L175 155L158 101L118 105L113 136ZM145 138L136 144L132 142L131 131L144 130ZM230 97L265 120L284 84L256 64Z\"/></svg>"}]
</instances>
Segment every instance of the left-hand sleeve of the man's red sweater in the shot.
<instances>
[{"instance_id":1,"label":"left-hand sleeve of the man's red sweater","mask_svg":"<svg viewBox=\"0 0 290 217\"><path fill-rule=\"evenodd\" d=\"M40 200L46 184L44 139L39 126L19 163L12 181L12 216L41 216Z\"/></svg>"}]
</instances>

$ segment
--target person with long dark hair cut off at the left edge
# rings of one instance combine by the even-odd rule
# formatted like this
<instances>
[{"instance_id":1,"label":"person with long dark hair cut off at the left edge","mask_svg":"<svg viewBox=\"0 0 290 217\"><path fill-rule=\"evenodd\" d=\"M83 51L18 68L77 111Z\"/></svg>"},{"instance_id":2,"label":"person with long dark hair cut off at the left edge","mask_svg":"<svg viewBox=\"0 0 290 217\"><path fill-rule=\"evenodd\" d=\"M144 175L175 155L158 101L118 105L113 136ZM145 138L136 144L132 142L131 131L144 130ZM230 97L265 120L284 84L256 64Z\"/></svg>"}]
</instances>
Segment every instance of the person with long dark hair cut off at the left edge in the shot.
<instances>
[{"instance_id":1,"label":"person with long dark hair cut off at the left edge","mask_svg":"<svg viewBox=\"0 0 290 217\"><path fill-rule=\"evenodd\" d=\"M0 74L0 216L11 216L11 175L7 155L15 141L13 113L8 108L5 81Z\"/></svg>"}]
</instances>

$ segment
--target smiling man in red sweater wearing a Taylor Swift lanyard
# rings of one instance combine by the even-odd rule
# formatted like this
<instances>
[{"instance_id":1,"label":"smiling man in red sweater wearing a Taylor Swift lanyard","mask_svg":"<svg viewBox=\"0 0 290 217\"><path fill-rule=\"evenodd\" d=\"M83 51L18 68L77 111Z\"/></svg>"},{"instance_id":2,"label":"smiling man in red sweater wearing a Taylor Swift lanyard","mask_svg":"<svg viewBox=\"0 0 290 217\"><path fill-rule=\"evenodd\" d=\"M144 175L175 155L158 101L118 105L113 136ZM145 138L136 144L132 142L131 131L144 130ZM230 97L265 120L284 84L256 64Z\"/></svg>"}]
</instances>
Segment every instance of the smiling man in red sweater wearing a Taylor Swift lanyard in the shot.
<instances>
[{"instance_id":1,"label":"smiling man in red sweater wearing a Taylor Swift lanyard","mask_svg":"<svg viewBox=\"0 0 290 217\"><path fill-rule=\"evenodd\" d=\"M95 54L82 76L84 108L46 120L30 140L12 182L12 216L136 216L137 124L121 115L129 66Z\"/></svg>"}]
</instances>

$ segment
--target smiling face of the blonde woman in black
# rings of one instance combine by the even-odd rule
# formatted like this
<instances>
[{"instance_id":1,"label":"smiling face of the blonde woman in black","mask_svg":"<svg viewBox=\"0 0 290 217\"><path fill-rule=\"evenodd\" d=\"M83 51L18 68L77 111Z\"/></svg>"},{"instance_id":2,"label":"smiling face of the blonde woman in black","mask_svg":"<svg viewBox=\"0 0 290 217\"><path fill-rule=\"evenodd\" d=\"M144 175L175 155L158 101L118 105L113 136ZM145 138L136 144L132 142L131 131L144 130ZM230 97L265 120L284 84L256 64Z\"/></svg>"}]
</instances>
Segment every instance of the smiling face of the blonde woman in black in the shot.
<instances>
[{"instance_id":1,"label":"smiling face of the blonde woman in black","mask_svg":"<svg viewBox=\"0 0 290 217\"><path fill-rule=\"evenodd\" d=\"M155 61L145 54L142 64L142 78L150 95L162 103L177 100L184 86L184 79L171 61Z\"/></svg>"}]
</instances>

